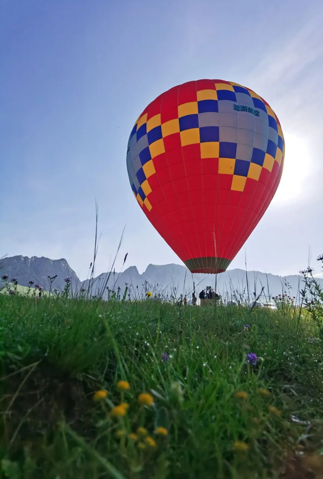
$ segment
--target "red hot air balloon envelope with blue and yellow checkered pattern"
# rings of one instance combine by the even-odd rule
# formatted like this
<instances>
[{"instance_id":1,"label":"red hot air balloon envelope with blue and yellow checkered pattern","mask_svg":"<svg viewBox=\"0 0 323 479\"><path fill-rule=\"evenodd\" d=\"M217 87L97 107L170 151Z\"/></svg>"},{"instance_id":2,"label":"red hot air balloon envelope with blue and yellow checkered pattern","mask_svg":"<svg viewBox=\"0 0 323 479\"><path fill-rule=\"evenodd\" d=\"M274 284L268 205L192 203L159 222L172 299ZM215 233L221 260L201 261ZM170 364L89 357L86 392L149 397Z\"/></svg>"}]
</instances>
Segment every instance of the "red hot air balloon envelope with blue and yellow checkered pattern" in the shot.
<instances>
[{"instance_id":1,"label":"red hot air balloon envelope with blue and yellow checkered pattern","mask_svg":"<svg viewBox=\"0 0 323 479\"><path fill-rule=\"evenodd\" d=\"M197 80L159 95L127 148L134 196L192 273L222 273L272 200L284 163L276 114L249 88Z\"/></svg>"}]
</instances>

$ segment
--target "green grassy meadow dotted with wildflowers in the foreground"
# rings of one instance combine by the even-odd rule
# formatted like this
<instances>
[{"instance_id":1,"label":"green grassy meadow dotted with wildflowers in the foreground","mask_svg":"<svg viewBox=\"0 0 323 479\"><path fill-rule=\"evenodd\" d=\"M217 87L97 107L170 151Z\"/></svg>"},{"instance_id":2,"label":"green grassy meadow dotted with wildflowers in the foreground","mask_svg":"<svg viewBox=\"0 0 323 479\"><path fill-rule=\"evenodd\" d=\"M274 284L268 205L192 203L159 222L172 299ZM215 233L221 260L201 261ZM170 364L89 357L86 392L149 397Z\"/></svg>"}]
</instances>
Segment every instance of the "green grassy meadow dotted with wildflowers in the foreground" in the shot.
<instances>
[{"instance_id":1,"label":"green grassy meadow dotted with wildflowers in the foreground","mask_svg":"<svg viewBox=\"0 0 323 479\"><path fill-rule=\"evenodd\" d=\"M303 312L1 295L0 477L323 477Z\"/></svg>"}]
</instances>

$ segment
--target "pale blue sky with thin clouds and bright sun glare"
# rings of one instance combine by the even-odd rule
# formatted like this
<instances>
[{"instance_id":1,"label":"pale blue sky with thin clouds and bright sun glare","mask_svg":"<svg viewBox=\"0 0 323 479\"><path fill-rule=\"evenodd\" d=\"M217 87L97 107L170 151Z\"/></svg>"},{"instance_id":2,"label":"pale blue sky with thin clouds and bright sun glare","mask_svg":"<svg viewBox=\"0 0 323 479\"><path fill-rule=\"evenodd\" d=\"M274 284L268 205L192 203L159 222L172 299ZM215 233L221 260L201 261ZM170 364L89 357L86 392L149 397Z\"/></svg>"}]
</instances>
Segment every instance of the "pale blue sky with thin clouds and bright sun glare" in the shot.
<instances>
[{"instance_id":1,"label":"pale blue sky with thin clouds and bright sun glare","mask_svg":"<svg viewBox=\"0 0 323 479\"><path fill-rule=\"evenodd\" d=\"M245 243L247 265L294 274L323 252L322 1L0 1L0 256L66 258L84 279L120 258L180 263L136 203L134 121L158 94L221 78L272 106L281 185ZM242 267L242 250L231 268Z\"/></svg>"}]
</instances>

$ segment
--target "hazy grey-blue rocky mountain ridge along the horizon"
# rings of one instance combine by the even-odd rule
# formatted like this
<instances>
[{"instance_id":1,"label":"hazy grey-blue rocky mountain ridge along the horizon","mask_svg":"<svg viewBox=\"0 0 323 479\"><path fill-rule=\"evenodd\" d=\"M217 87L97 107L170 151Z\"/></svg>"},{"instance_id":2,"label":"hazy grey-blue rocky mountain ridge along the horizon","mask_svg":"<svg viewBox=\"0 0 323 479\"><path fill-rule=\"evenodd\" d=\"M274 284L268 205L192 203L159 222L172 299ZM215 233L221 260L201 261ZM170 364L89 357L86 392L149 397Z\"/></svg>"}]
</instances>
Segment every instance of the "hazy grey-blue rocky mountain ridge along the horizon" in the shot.
<instances>
[{"instance_id":1,"label":"hazy grey-blue rocky mountain ridge along the horizon","mask_svg":"<svg viewBox=\"0 0 323 479\"><path fill-rule=\"evenodd\" d=\"M0 278L3 274L17 278L18 284L25 286L28 281L39 283L45 290L49 289L48 276L57 277L53 283L52 289L62 290L65 286L64 278L71 277L71 285L73 291L81 288L89 287L89 280L80 281L75 271L69 266L64 258L59 260L51 260L42 256L38 258L32 256L12 256L0 260ZM110 275L110 276L109 276ZM302 277L299 275L278 276L275 274L265 274L259 271L248 271L248 287L249 296L253 297L254 292L258 295L264 286L264 297L276 296L286 289L284 284L290 285L290 295L297 296L298 291L302 288ZM109 279L108 279L109 277ZM323 286L323 279L318 281ZM0 280L1 282L1 280ZM109 288L121 288L123 292L125 284L133 296L138 296L143 290L145 283L149 289L164 291L165 294L180 294L191 296L193 291L193 282L195 283L196 292L207 286L212 286L217 291L225 295L229 293L229 297L236 294L244 293L247 296L246 272L241 269L233 269L225 271L222 274L191 274L185 266L179 264L149 264L144 273L140 274L136 266L130 266L121 273L107 272L93 278L91 291L93 295L98 294L106 285ZM216 285L215 285L216 282Z\"/></svg>"}]
</instances>

